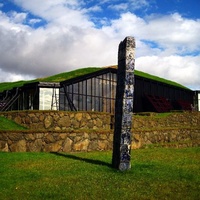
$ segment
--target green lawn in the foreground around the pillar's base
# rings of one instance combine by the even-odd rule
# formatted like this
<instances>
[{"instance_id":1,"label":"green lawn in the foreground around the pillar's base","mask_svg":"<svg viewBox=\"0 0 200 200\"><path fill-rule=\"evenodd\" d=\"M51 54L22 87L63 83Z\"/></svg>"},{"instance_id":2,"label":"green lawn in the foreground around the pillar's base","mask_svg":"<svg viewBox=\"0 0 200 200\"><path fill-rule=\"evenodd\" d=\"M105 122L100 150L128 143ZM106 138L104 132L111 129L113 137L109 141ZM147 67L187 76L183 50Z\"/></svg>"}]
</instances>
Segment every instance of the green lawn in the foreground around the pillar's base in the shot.
<instances>
[{"instance_id":1,"label":"green lawn in the foreground around the pillar's base","mask_svg":"<svg viewBox=\"0 0 200 200\"><path fill-rule=\"evenodd\" d=\"M111 168L112 152L0 152L0 199L199 200L200 148L138 149L132 168Z\"/></svg>"}]
</instances>

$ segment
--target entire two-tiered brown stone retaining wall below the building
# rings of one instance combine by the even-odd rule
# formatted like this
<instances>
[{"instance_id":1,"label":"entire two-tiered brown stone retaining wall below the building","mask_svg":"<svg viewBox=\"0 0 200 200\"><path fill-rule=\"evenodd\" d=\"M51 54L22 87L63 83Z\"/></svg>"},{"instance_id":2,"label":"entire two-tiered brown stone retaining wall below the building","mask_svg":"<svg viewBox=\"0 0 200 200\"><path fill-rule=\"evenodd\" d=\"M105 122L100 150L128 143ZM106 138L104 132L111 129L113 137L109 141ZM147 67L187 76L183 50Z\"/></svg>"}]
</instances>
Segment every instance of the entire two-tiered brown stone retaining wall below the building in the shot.
<instances>
[{"instance_id":1,"label":"entire two-tiered brown stone retaining wall below the building","mask_svg":"<svg viewBox=\"0 0 200 200\"><path fill-rule=\"evenodd\" d=\"M113 129L111 129L110 124L112 124L113 116L109 114L52 111L35 112L34 115L33 113L8 112L0 114L18 123L20 122L22 125L25 124L23 120L30 118L29 123L26 124L27 127L30 127L29 130L0 131L0 151L71 152L112 150ZM36 116L37 119L41 120L38 124L43 124L43 126L40 125L40 129L37 129L36 122L34 122ZM61 120L63 120L62 123ZM85 120L84 123L82 120ZM47 121L50 122L47 123ZM47 126L48 124L50 125ZM74 124L78 125L75 126ZM134 116L132 149L152 145L154 147L177 148L200 146L200 112L174 113L167 117Z\"/></svg>"}]
</instances>

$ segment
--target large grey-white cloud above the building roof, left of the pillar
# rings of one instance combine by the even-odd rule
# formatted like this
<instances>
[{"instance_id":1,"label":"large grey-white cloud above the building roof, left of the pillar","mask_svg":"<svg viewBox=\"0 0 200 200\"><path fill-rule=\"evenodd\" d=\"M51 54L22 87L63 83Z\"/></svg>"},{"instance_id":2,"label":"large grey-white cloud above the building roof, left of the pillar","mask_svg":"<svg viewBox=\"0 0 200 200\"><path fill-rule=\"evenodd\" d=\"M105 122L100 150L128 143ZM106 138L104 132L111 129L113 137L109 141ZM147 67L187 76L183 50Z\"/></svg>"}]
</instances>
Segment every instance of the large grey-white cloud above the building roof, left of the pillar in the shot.
<instances>
[{"instance_id":1,"label":"large grey-white cloud above the building roof, left of the pillar","mask_svg":"<svg viewBox=\"0 0 200 200\"><path fill-rule=\"evenodd\" d=\"M46 28L34 30L10 23L0 28L0 67L4 71L38 77L88 65L115 64L115 51L105 51L114 48L113 42L107 43L109 39L92 27L48 24Z\"/></svg>"}]
</instances>

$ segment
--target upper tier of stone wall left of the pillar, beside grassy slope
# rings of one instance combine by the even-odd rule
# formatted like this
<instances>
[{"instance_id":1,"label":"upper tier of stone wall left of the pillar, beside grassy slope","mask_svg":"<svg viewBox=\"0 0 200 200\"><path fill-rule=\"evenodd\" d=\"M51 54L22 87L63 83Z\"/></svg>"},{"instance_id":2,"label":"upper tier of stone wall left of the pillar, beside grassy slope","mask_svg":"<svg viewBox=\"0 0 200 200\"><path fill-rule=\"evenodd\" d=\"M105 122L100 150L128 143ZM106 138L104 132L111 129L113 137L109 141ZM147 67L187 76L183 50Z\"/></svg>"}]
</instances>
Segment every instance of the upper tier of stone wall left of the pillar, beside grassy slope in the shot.
<instances>
[{"instance_id":1,"label":"upper tier of stone wall left of the pillar, beside grassy slope","mask_svg":"<svg viewBox=\"0 0 200 200\"><path fill-rule=\"evenodd\" d=\"M11 111L1 116L32 130L110 129L109 113L67 111Z\"/></svg>"}]
</instances>

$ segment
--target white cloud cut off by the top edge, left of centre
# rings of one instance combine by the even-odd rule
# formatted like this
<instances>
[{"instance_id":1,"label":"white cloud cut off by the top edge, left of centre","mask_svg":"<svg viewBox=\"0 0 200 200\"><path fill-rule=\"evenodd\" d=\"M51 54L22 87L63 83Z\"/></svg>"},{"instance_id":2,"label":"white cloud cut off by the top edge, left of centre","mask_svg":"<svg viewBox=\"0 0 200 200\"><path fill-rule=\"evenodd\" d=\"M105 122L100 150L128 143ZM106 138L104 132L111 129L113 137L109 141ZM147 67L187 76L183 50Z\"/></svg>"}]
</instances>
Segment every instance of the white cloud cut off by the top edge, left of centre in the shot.
<instances>
[{"instance_id":1,"label":"white cloud cut off by the top edge, left of centre","mask_svg":"<svg viewBox=\"0 0 200 200\"><path fill-rule=\"evenodd\" d=\"M81 10L82 3L78 0L15 0L15 3L54 26L68 25L87 28L93 25L87 15L84 15L84 9Z\"/></svg>"}]
</instances>

